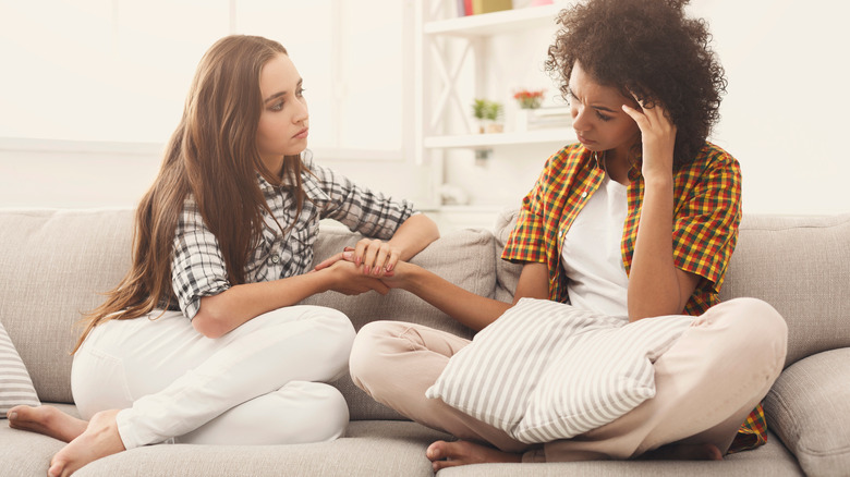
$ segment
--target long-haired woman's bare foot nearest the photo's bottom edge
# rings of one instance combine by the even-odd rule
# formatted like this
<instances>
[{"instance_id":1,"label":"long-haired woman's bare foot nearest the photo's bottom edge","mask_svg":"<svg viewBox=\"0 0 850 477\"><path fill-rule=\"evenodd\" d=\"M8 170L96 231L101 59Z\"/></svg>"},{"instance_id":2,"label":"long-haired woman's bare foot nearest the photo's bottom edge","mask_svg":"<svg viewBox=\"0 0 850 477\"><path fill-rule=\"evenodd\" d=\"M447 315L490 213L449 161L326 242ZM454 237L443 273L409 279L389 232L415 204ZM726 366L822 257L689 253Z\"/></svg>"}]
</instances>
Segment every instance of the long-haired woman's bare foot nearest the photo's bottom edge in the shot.
<instances>
[{"instance_id":1,"label":"long-haired woman's bare foot nearest the photo's bottom edge","mask_svg":"<svg viewBox=\"0 0 850 477\"><path fill-rule=\"evenodd\" d=\"M124 443L118 433L117 414L118 409L95 414L85 432L53 455L47 475L66 477L89 462L124 451Z\"/></svg>"}]
</instances>

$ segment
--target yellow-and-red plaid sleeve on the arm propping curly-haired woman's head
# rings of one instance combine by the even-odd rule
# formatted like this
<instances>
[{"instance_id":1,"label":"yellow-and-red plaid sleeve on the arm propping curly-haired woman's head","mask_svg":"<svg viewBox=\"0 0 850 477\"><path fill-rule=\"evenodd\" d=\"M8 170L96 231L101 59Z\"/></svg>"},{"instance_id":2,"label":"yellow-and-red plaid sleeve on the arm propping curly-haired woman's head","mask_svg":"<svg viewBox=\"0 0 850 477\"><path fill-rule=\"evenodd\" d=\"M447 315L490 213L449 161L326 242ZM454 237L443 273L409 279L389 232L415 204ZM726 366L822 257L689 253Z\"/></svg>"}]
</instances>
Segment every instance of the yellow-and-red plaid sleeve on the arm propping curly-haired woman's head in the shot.
<instances>
[{"instance_id":1,"label":"yellow-and-red plaid sleeve on the arm propping curly-haired woman's head","mask_svg":"<svg viewBox=\"0 0 850 477\"><path fill-rule=\"evenodd\" d=\"M706 145L677 181L673 260L681 270L699 274L719 293L741 221L741 170L728 152Z\"/></svg>"}]
</instances>

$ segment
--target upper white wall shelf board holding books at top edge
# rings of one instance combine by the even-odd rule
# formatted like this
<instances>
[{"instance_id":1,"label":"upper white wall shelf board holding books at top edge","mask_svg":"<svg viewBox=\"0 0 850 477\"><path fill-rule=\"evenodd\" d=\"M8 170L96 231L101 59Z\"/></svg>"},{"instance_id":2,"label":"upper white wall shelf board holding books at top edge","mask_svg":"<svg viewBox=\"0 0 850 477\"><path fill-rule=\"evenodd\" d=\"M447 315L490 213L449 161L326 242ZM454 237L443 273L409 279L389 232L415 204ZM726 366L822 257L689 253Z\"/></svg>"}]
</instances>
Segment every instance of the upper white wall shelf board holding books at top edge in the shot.
<instances>
[{"instance_id":1,"label":"upper white wall shelf board holding books at top edge","mask_svg":"<svg viewBox=\"0 0 850 477\"><path fill-rule=\"evenodd\" d=\"M527 7L501 12L482 13L479 15L459 16L456 19L428 22L423 26L426 35L450 35L459 37L484 37L530 29L536 26L554 26L555 16L564 4L556 3L542 7Z\"/></svg>"}]
</instances>

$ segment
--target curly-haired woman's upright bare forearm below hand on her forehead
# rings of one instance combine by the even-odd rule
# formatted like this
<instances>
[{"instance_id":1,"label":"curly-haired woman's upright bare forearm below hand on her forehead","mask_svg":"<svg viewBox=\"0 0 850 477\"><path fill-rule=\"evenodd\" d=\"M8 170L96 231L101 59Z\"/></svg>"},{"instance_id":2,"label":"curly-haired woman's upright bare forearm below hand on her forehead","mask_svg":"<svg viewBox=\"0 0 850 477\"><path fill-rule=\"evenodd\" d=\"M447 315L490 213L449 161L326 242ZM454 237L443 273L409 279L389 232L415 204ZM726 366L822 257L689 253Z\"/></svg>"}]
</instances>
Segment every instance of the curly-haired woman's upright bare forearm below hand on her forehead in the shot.
<instances>
[{"instance_id":1,"label":"curly-haired woman's upright bare forearm below hand on her forehead","mask_svg":"<svg viewBox=\"0 0 850 477\"><path fill-rule=\"evenodd\" d=\"M629 273L629 319L680 314L682 291L673 262L672 178L646 180Z\"/></svg>"}]
</instances>

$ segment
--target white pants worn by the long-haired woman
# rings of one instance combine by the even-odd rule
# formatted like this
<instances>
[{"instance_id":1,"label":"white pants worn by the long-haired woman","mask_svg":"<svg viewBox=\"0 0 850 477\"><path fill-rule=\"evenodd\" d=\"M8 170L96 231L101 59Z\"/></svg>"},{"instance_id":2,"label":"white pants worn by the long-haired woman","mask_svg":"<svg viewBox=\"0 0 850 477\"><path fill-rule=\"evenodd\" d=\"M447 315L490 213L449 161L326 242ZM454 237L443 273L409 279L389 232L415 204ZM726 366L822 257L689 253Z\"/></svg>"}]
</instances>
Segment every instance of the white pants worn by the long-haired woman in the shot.
<instances>
[{"instance_id":1,"label":"white pants worn by the long-haired woman","mask_svg":"<svg viewBox=\"0 0 850 477\"><path fill-rule=\"evenodd\" d=\"M150 318L96 327L71 372L83 418L122 409L118 429L126 449L172 438L207 444L319 442L344 432L345 400L323 383L348 369L354 328L342 313L281 308L215 340L179 311Z\"/></svg>"}]
</instances>

